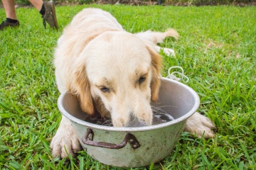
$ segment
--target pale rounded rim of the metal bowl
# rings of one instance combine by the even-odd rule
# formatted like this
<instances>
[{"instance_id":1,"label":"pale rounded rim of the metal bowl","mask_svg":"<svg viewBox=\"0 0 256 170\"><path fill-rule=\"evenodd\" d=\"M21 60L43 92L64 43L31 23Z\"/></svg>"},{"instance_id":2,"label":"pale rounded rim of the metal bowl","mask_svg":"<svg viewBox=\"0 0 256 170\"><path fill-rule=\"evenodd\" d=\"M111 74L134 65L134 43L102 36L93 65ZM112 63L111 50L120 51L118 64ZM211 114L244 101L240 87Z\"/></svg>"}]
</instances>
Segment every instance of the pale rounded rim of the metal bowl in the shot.
<instances>
[{"instance_id":1,"label":"pale rounded rim of the metal bowl","mask_svg":"<svg viewBox=\"0 0 256 170\"><path fill-rule=\"evenodd\" d=\"M164 81L171 81L174 84L178 84L179 86L183 86L183 88L185 88L185 89L187 89L188 91L191 92L193 98L195 98L195 104L193 105L193 108L191 108L191 111L188 111L188 113L186 113L185 115L182 115L180 118L177 118L177 119L172 120L170 122L161 123L161 124L158 124L158 125L132 127L132 128L119 128L119 127L110 127L110 126L105 126L105 125L96 125L96 124L88 123L88 122L85 122L84 120L80 120L78 118L75 118L73 115L70 115L70 113L65 111L65 108L62 106L62 103L63 103L63 98L68 93L67 91L65 91L63 94L60 94L60 96L58 97L58 109L69 120L72 120L73 122L78 123L80 125L85 125L85 126L87 126L87 128L93 128L93 129L98 129L98 130L108 130L108 131L115 131L115 132L137 132L137 131L147 131L147 130L165 128L167 126L174 125L176 123L180 123L184 120L187 120L189 117L191 117L191 115L196 113L196 111L197 111L197 109L200 105L200 98L199 98L198 94L196 93L196 91L191 89L191 87L187 86L186 84L182 84L179 81L175 81L175 80L172 80L172 79L167 79L167 78L164 78L164 77L161 77L160 79L163 79Z\"/></svg>"}]
</instances>

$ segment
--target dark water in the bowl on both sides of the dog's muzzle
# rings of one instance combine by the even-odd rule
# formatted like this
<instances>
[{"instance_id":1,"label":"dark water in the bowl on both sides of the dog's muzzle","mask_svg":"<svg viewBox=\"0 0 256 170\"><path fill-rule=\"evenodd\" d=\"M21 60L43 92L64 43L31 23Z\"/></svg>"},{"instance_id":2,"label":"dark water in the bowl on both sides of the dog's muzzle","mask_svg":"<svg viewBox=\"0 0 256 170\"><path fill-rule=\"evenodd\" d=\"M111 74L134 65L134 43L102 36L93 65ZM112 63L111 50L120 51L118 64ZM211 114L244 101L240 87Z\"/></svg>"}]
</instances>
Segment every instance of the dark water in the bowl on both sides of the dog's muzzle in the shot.
<instances>
[{"instance_id":1,"label":"dark water in the bowl on both sides of the dog's muzzle","mask_svg":"<svg viewBox=\"0 0 256 170\"><path fill-rule=\"evenodd\" d=\"M164 111L161 108L152 107L152 111L153 111L152 125L159 125L161 123L166 123L171 120L174 120L174 117L172 117L169 113L166 113L166 111ZM101 116L94 117L94 118L88 116L85 119L85 121L88 123L96 124L96 125L105 125L110 127L113 126L110 118L102 118Z\"/></svg>"}]
</instances>

